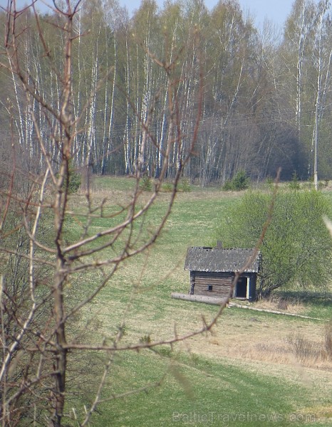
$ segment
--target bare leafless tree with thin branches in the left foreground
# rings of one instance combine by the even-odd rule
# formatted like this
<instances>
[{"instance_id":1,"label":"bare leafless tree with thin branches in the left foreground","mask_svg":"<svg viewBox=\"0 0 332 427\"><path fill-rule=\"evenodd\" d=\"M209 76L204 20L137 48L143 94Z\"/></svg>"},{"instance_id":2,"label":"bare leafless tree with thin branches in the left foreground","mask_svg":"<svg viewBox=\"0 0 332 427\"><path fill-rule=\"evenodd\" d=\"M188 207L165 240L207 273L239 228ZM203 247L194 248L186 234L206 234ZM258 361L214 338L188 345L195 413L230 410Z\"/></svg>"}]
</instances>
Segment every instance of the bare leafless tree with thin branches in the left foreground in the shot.
<instances>
[{"instance_id":1,"label":"bare leafless tree with thin branches in the left foreground","mask_svg":"<svg viewBox=\"0 0 332 427\"><path fill-rule=\"evenodd\" d=\"M136 167L135 191L128 202L118 207L118 211L108 214L108 200L95 205L90 188L85 185L85 210L75 212L71 206L72 162L79 124L86 115L85 105L78 115L73 109L73 45L81 35L73 28L73 21L80 7L80 0L66 0L61 6L53 2L53 12L58 16L50 25L56 27L64 46L61 63L53 57L48 42L43 37L43 26L34 4L19 11L16 2L9 1L6 11L5 54L1 66L11 76L13 90L25 96L29 120L33 124L30 136L36 142L41 162L38 173L23 174L16 164L17 138L20 133L11 129L11 170L1 187L0 217L0 320L1 320L1 423L2 426L49 425L61 426L66 418L66 401L70 396L68 376L72 376L72 361L83 360L89 352L106 354L104 367L100 368L100 381L95 396L87 408L79 425L88 424L91 415L100 402L101 392L108 377L114 354L124 351L138 351L157 347L160 344L174 344L182 339L211 330L224 305L211 322L203 322L202 327L186 336L177 333L169 339L156 342L123 343L125 320L119 320L118 334L111 344L85 339L79 330L77 315L87 307L103 288L110 285L119 266L153 246L160 231L165 226L177 193L177 184L184 164L190 159L201 115L198 108L192 143L183 153L180 108L177 99L179 81L174 77L177 55L172 54L170 63L157 60L148 50L149 60L154 61L165 73L168 100L168 122L170 126L167 144L160 147L150 132L150 117L154 102L144 120L141 121L141 152L147 140L157 149L162 149L163 163L160 178L155 181L152 192L142 194L140 181L144 172L144 156L141 155ZM43 60L48 60L51 73L58 81L58 99L52 105L39 90L34 78L24 62L25 36L28 28L24 21L26 14L34 16L42 47ZM195 33L198 43L198 32ZM4 58L4 56L3 56ZM202 75L197 93L198 105L202 105ZM162 92L156 97L165 96ZM36 117L36 103L40 107L43 120L48 122L46 135L40 129L40 117ZM56 105L56 107L55 107ZM10 108L9 108L10 110ZM17 119L15 113L11 115ZM20 120L20 117L18 117ZM20 139L19 139L19 142ZM176 174L170 199L160 222L154 230L147 230L144 219L155 204L160 193L162 180L169 167L170 154L174 147L182 156L176 159ZM23 178L22 178L23 176ZM28 185L15 186L24 181ZM85 183L86 184L86 183ZM78 219L79 214L79 219ZM108 218L110 226L95 233L90 227L96 218ZM67 224L79 221L81 235L71 241L67 236ZM110 256L112 249L113 256ZM88 295L80 295L78 281L84 275L93 273L99 282L90 288ZM76 333L73 334L73 325ZM83 329L83 325L81 325ZM151 385L150 385L151 386ZM133 390L135 391L135 390ZM140 391L140 390L138 390Z\"/></svg>"}]
</instances>

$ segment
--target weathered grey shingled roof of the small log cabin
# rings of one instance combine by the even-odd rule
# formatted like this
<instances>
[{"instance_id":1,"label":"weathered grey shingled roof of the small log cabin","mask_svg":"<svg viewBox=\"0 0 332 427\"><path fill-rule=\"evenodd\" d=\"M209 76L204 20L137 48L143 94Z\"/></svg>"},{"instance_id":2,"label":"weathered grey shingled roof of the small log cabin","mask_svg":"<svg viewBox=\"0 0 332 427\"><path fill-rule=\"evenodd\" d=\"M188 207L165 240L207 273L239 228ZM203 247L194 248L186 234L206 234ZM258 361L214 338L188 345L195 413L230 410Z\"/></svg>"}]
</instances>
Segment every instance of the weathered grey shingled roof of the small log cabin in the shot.
<instances>
[{"instance_id":1,"label":"weathered grey shingled roof of the small log cabin","mask_svg":"<svg viewBox=\"0 0 332 427\"><path fill-rule=\"evenodd\" d=\"M185 270L230 273L239 271L247 264L254 249L188 248ZM244 273L258 273L261 255L256 258Z\"/></svg>"}]
</instances>

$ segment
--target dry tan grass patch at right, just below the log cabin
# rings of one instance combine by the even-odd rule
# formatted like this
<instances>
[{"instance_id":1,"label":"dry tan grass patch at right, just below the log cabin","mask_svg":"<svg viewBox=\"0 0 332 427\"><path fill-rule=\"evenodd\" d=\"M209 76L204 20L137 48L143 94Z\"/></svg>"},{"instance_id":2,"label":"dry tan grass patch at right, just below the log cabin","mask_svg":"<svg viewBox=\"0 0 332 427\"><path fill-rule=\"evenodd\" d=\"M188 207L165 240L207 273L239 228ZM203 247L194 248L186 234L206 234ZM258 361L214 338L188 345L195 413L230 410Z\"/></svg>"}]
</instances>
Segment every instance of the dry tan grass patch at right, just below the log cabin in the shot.
<instances>
[{"instance_id":1,"label":"dry tan grass patch at right, just below the log cabin","mask_svg":"<svg viewBox=\"0 0 332 427\"><path fill-rule=\"evenodd\" d=\"M228 309L228 310L232 310ZM257 317L247 313L242 320L227 315L214 336L196 339L195 351L213 357L271 362L332 372L325 354L323 322L292 322L284 318Z\"/></svg>"}]
</instances>

